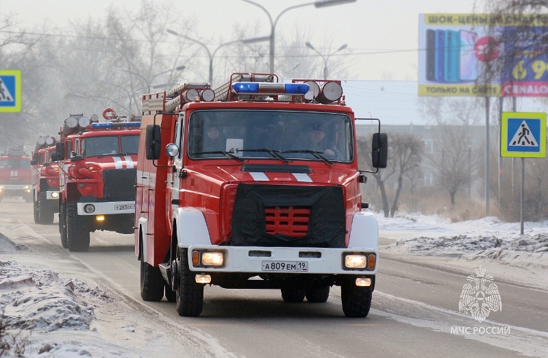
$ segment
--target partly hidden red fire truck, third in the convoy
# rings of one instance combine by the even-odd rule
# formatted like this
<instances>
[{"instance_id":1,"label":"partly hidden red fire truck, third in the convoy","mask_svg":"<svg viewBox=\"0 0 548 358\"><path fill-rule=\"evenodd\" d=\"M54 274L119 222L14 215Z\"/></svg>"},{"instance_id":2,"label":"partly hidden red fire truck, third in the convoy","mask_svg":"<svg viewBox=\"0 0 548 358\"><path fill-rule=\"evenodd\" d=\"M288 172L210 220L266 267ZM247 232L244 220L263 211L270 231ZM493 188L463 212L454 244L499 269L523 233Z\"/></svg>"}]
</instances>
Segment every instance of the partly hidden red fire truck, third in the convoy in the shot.
<instances>
[{"instance_id":1,"label":"partly hidden red fire truck, third in the convoy","mask_svg":"<svg viewBox=\"0 0 548 358\"><path fill-rule=\"evenodd\" d=\"M51 136L38 138L32 154L32 202L36 224L53 223L53 216L59 211L59 164L51 159L55 142Z\"/></svg>"}]
</instances>

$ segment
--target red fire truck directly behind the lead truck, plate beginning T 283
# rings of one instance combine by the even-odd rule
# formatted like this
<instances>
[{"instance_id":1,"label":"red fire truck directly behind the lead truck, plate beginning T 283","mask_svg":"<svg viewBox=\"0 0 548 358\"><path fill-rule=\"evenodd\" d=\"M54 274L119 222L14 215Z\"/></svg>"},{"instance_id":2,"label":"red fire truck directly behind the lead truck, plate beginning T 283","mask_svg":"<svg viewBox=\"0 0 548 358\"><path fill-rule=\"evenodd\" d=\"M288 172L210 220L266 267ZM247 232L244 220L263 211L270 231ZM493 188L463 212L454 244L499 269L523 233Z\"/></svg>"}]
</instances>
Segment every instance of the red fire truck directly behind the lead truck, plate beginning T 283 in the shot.
<instances>
[{"instance_id":1,"label":"red fire truck directly behind the lead truck, plate beginning T 283","mask_svg":"<svg viewBox=\"0 0 548 358\"><path fill-rule=\"evenodd\" d=\"M60 166L59 231L63 247L88 251L95 230L134 233L140 123L108 108L105 123L71 114L56 144Z\"/></svg>"}]
</instances>

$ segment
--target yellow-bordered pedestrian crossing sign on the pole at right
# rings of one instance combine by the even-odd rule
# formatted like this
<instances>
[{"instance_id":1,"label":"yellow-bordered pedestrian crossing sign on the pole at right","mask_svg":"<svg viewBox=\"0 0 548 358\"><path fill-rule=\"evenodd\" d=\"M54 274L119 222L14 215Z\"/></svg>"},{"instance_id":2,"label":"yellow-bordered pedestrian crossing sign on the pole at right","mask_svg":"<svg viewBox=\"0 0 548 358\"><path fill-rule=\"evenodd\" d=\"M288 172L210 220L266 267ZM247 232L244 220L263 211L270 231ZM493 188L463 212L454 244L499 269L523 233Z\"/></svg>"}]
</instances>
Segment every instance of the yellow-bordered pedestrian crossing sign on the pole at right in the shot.
<instances>
[{"instance_id":1,"label":"yellow-bordered pedestrian crossing sign on the pole at right","mask_svg":"<svg viewBox=\"0 0 548 358\"><path fill-rule=\"evenodd\" d=\"M501 157L546 157L546 114L503 112Z\"/></svg>"}]
</instances>

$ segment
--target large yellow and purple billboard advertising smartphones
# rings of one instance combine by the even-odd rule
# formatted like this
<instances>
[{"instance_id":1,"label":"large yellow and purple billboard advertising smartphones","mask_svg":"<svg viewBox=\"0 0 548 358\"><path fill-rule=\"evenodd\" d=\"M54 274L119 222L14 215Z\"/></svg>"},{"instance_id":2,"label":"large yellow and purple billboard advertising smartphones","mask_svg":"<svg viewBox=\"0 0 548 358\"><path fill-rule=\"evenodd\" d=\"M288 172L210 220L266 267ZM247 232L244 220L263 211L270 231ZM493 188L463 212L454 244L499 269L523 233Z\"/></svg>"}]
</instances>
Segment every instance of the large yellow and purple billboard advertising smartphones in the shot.
<instances>
[{"instance_id":1,"label":"large yellow and purple billboard advertising smartphones","mask_svg":"<svg viewBox=\"0 0 548 358\"><path fill-rule=\"evenodd\" d=\"M545 36L548 15L420 14L419 95L547 97Z\"/></svg>"}]
</instances>

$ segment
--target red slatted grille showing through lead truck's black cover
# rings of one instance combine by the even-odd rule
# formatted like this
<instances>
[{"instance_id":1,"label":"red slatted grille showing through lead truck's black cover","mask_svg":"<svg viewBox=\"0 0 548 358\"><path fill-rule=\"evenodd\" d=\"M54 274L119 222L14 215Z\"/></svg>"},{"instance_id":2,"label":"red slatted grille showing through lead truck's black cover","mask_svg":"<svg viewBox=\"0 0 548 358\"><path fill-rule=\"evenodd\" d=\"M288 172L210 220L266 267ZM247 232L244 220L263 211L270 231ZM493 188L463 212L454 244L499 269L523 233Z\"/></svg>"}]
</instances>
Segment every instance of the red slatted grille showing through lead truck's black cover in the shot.
<instances>
[{"instance_id":1,"label":"red slatted grille showing through lead truck's black cover","mask_svg":"<svg viewBox=\"0 0 548 358\"><path fill-rule=\"evenodd\" d=\"M266 233L301 238L308 231L310 207L265 207Z\"/></svg>"}]
</instances>

